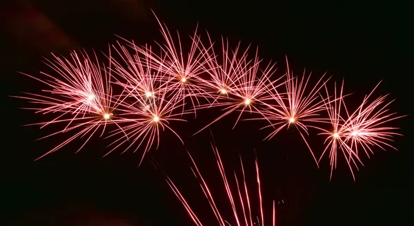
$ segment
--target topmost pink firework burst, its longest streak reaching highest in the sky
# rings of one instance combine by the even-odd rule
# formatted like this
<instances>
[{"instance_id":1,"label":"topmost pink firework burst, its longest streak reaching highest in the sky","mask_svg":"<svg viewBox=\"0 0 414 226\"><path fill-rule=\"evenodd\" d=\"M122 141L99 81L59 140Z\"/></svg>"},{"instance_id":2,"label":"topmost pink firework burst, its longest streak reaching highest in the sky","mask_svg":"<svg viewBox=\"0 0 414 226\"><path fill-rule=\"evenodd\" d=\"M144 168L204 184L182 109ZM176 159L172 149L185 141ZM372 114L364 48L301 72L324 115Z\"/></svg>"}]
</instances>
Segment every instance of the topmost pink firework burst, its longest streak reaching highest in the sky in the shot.
<instances>
[{"instance_id":1,"label":"topmost pink firework burst, its longest streak reaching highest in the sky","mask_svg":"<svg viewBox=\"0 0 414 226\"><path fill-rule=\"evenodd\" d=\"M138 53L150 59L149 67L168 75L168 77L164 77L162 82L166 89L174 91L175 95L181 96L180 99L183 101L182 112L186 111L184 104L186 100L189 100L191 107L187 109L192 109L196 114L196 106L200 104L199 98L202 97L208 100L208 95L201 87L201 74L205 73L204 64L207 64L212 57L206 57L207 52L200 50L200 37L197 35L197 28L194 35L190 36L190 49L186 52L183 50L179 32L177 31L177 41L175 41L167 26L161 23L157 17L156 19L165 41L164 44L157 43L161 50L159 55L154 53L148 46L136 46L130 41L128 43Z\"/></svg>"}]
</instances>

